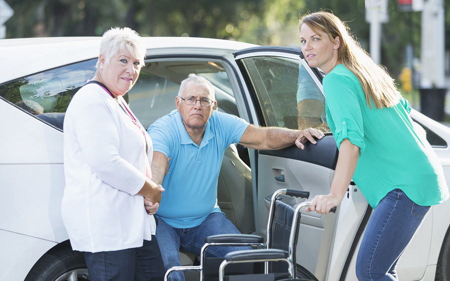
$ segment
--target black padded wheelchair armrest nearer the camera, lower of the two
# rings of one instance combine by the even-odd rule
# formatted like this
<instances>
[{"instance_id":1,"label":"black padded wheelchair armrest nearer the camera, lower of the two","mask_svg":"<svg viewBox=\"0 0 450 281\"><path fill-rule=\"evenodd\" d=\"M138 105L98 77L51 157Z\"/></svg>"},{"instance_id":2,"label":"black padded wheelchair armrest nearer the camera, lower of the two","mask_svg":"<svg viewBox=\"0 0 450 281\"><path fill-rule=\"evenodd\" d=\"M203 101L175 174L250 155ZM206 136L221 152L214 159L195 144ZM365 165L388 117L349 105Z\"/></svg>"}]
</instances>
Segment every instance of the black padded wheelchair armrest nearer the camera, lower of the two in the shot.
<instances>
[{"instance_id":1,"label":"black padded wheelchair armrest nearer the camera, lower of the two","mask_svg":"<svg viewBox=\"0 0 450 281\"><path fill-rule=\"evenodd\" d=\"M270 259L285 259L289 256L287 251L280 249L254 249L234 251L225 254L226 261L264 261Z\"/></svg>"}]
</instances>

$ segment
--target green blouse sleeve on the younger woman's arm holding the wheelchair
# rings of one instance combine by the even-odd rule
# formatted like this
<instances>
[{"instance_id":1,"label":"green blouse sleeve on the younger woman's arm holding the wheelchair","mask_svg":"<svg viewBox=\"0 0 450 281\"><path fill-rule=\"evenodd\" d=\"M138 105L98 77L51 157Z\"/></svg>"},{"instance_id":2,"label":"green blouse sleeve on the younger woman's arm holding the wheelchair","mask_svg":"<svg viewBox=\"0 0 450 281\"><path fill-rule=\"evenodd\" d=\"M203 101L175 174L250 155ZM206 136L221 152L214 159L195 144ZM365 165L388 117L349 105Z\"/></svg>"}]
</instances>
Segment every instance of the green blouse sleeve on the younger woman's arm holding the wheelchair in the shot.
<instances>
[{"instance_id":1,"label":"green blouse sleeve on the younger woman's arm holding the wheelchair","mask_svg":"<svg viewBox=\"0 0 450 281\"><path fill-rule=\"evenodd\" d=\"M331 131L337 148L343 140L348 139L362 153L365 144L358 90L347 77L331 72L323 79L323 92L327 119L331 118L334 124L334 130Z\"/></svg>"}]
</instances>

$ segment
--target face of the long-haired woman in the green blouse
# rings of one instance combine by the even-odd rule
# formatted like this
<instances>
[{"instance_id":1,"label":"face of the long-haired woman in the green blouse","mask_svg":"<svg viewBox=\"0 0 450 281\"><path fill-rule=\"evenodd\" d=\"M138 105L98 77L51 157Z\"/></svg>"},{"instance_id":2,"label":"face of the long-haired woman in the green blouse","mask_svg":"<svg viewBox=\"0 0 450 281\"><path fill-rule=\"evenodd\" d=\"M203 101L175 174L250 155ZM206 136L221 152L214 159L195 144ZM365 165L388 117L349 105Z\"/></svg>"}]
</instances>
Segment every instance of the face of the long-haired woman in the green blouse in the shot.
<instances>
[{"instance_id":1,"label":"face of the long-haired woman in the green blouse","mask_svg":"<svg viewBox=\"0 0 450 281\"><path fill-rule=\"evenodd\" d=\"M300 29L301 52L310 67L316 67L325 74L329 73L337 62L339 38L333 43L328 35L321 31L313 31L303 24Z\"/></svg>"}]
</instances>

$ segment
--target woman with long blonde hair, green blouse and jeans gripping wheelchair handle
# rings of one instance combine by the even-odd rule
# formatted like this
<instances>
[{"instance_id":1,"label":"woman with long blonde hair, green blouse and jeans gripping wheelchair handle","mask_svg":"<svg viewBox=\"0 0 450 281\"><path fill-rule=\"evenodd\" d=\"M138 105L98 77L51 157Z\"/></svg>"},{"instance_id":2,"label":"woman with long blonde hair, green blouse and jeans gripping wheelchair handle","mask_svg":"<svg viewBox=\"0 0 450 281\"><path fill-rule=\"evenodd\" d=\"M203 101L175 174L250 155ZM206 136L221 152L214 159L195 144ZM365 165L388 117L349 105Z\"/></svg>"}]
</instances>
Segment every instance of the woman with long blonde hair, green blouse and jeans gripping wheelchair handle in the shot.
<instances>
[{"instance_id":1,"label":"woman with long blonde hair, green blouse and jeans gripping wheelchair handle","mask_svg":"<svg viewBox=\"0 0 450 281\"><path fill-rule=\"evenodd\" d=\"M431 205L448 199L442 167L423 134L414 131L409 104L392 79L331 13L299 23L301 50L321 69L326 120L339 149L330 193L309 211L325 214L342 201L350 180L374 211L357 260L358 280L398 280L396 264Z\"/></svg>"}]
</instances>

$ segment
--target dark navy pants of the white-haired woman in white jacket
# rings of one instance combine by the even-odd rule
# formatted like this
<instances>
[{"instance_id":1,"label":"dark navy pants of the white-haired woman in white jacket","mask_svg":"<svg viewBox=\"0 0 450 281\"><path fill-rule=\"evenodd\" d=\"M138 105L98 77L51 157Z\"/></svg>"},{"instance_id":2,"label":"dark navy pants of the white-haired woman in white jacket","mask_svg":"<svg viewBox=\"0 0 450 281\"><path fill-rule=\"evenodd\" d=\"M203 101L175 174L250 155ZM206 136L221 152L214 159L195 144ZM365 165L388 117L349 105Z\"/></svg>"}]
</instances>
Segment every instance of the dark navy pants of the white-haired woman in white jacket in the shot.
<instances>
[{"instance_id":1,"label":"dark navy pants of the white-haired woman in white jacket","mask_svg":"<svg viewBox=\"0 0 450 281\"><path fill-rule=\"evenodd\" d=\"M159 281L165 271L154 235L143 245L118 251L84 252L89 279L92 281Z\"/></svg>"}]
</instances>

